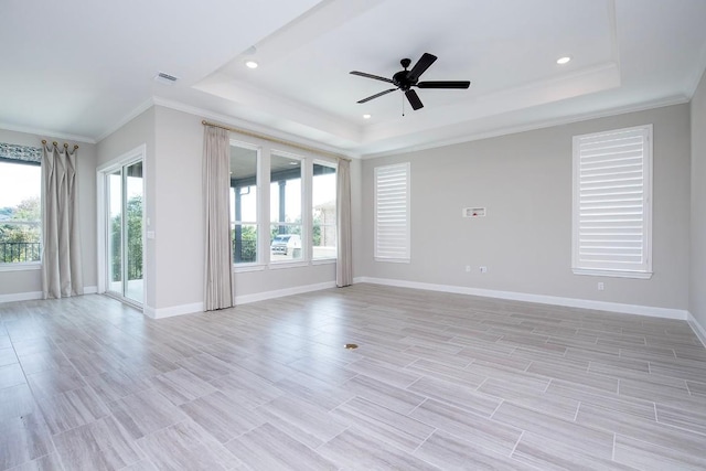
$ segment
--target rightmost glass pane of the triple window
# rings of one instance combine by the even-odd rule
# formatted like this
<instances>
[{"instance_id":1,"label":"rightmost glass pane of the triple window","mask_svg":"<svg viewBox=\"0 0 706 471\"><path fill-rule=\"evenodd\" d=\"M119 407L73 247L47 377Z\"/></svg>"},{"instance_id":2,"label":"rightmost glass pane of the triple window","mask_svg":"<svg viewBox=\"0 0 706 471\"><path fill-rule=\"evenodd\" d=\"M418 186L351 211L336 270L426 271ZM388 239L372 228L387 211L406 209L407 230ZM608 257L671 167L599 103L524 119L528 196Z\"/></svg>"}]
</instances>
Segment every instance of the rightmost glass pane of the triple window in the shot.
<instances>
[{"instance_id":1,"label":"rightmost glass pane of the triple window","mask_svg":"<svg viewBox=\"0 0 706 471\"><path fill-rule=\"evenodd\" d=\"M314 260L336 256L335 191L335 168L314 163L311 183L311 258Z\"/></svg>"}]
</instances>

